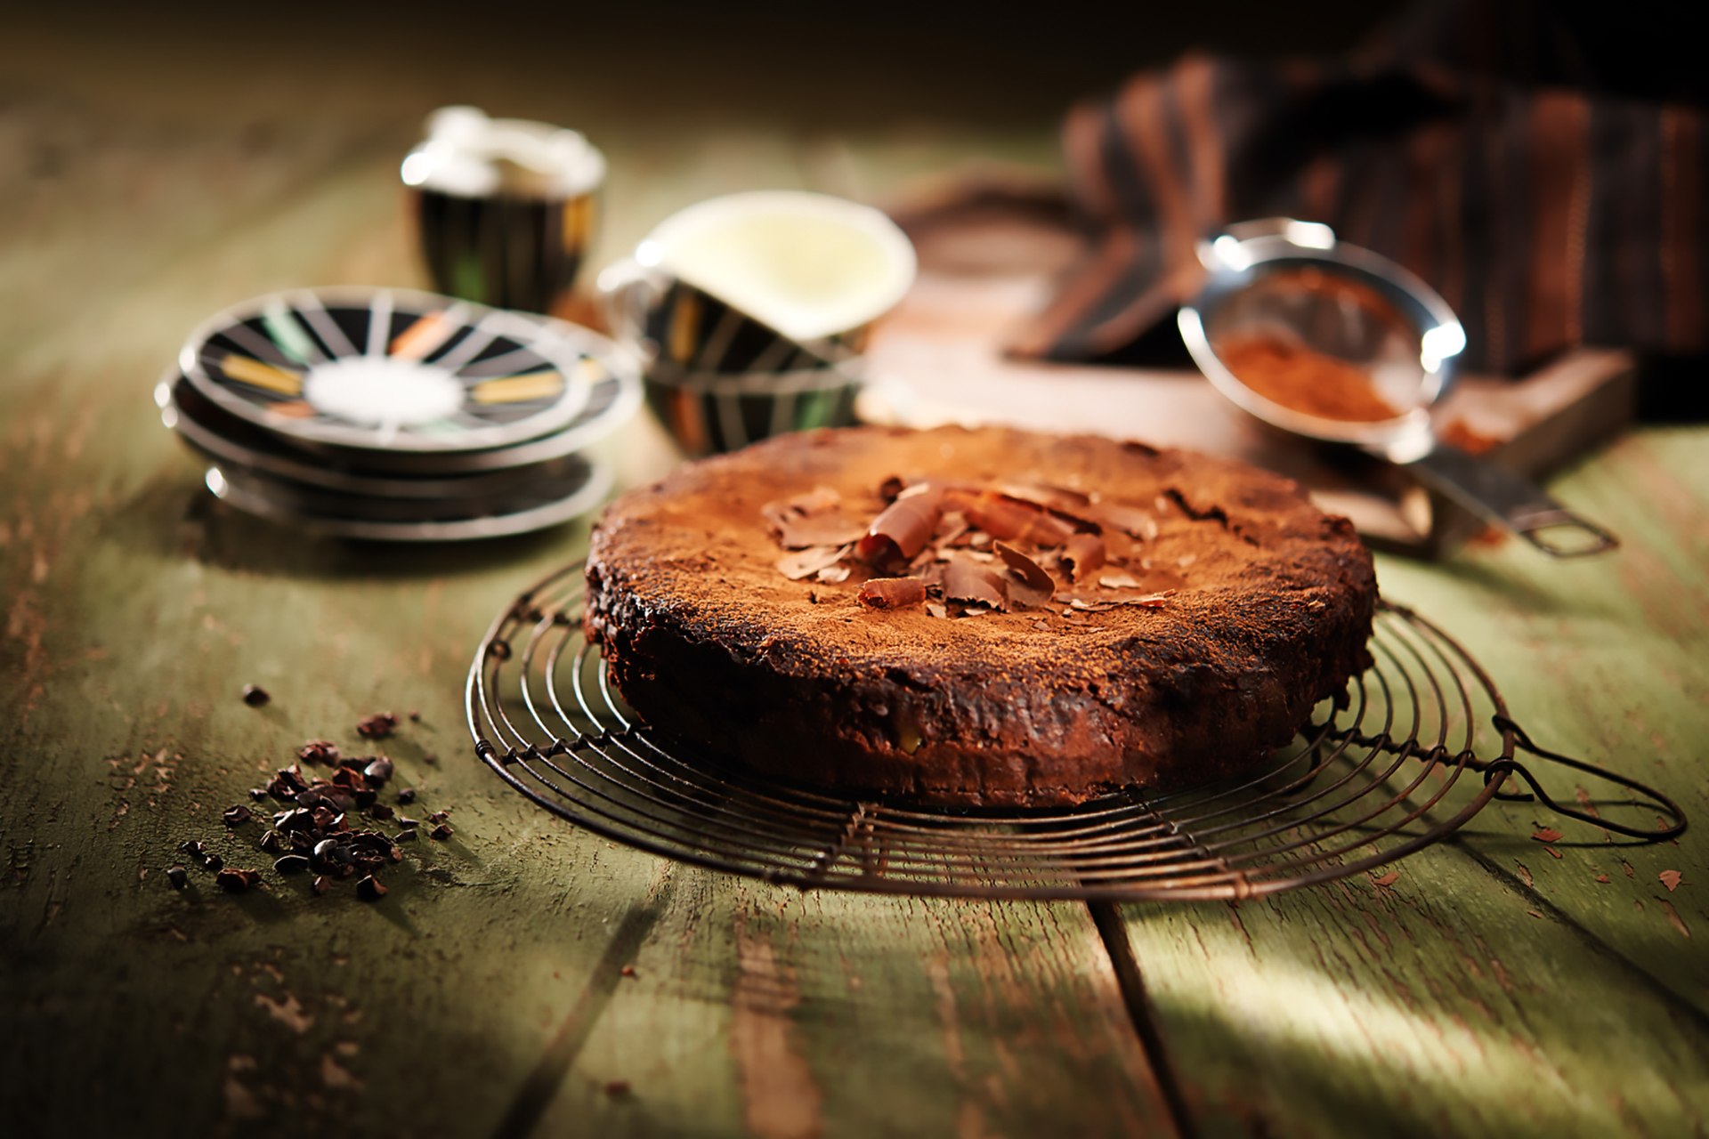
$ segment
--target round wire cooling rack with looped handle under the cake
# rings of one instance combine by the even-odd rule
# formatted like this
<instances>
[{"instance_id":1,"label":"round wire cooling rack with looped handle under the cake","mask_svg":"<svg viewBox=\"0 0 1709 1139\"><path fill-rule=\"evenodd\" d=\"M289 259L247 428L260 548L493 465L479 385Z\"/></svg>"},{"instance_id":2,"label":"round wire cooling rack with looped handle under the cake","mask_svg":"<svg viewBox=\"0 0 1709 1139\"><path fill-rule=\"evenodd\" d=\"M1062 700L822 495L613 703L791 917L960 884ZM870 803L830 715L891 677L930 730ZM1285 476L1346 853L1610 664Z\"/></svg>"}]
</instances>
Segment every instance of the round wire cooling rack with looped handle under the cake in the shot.
<instances>
[{"instance_id":1,"label":"round wire cooling rack with looped handle under the cake","mask_svg":"<svg viewBox=\"0 0 1709 1139\"><path fill-rule=\"evenodd\" d=\"M1073 808L938 809L749 772L646 727L581 635L581 564L523 593L468 671L477 755L547 811L665 857L802 888L1080 898L1248 898L1422 850L1530 784L1550 809L1646 840L1685 816L1622 775L1533 745L1489 675L1417 613L1379 603L1376 664L1261 770L1186 792L1131 789ZM1550 799L1516 750L1647 796L1637 830Z\"/></svg>"}]
</instances>

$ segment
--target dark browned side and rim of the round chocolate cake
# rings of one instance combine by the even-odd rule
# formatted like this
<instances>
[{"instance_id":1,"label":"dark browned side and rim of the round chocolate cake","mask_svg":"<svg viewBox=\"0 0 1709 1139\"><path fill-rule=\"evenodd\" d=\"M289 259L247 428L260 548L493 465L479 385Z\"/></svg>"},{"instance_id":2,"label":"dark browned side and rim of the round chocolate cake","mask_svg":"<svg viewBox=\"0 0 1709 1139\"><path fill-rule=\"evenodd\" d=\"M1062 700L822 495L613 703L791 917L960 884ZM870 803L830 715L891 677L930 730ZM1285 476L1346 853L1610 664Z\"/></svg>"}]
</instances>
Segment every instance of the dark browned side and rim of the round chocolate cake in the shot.
<instances>
[{"instance_id":1,"label":"dark browned side and rim of the round chocolate cake","mask_svg":"<svg viewBox=\"0 0 1709 1139\"><path fill-rule=\"evenodd\" d=\"M1099 637L990 661L918 651L942 637L942 625L933 628L940 618L919 611L877 615L901 642L884 652L795 637L764 605L704 605L728 582L714 584L704 567L660 564L651 533L658 504L721 476L786 466L808 446L824 449L825 439L784 437L684 468L614 504L595 528L588 639L602 647L617 690L655 727L764 772L849 791L942 804L1063 804L1249 767L1369 664L1376 579L1345 519L1323 516L1271 475L1150 449L1136 454L1179 470L1183 500L1232 470L1258 488L1256 500L1280 511L1282 536L1273 540L1283 550L1260 558L1261 581L1184 591L1162 616L1119 615L1119 627ZM1201 478L1193 476L1198 468ZM1277 505L1278 488L1292 502ZM1193 509L1222 507L1200 500ZM1314 533L1294 533L1301 526ZM757 517L752 528L764 538ZM658 589L660 577L675 579L680 596Z\"/></svg>"}]
</instances>

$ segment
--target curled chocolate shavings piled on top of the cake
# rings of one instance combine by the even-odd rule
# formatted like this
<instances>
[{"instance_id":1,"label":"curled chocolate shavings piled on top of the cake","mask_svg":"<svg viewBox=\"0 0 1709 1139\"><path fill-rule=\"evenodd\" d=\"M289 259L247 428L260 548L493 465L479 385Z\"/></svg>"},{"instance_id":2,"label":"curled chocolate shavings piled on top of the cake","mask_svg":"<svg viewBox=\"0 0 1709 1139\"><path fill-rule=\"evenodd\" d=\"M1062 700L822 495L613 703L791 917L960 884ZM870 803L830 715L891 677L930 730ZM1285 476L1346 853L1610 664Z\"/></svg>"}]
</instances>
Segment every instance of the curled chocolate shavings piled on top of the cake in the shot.
<instances>
[{"instance_id":1,"label":"curled chocolate shavings piled on top of the cake","mask_svg":"<svg viewBox=\"0 0 1709 1139\"><path fill-rule=\"evenodd\" d=\"M923 605L931 616L1046 610L1066 618L1131 605L1157 608L1174 589L1147 591L1133 570L1157 538L1147 511L1065 487L945 482L878 488L872 521L843 514L829 487L767 502L761 514L786 553L790 581L858 581L872 610ZM1166 504L1160 504L1160 509Z\"/></svg>"}]
</instances>

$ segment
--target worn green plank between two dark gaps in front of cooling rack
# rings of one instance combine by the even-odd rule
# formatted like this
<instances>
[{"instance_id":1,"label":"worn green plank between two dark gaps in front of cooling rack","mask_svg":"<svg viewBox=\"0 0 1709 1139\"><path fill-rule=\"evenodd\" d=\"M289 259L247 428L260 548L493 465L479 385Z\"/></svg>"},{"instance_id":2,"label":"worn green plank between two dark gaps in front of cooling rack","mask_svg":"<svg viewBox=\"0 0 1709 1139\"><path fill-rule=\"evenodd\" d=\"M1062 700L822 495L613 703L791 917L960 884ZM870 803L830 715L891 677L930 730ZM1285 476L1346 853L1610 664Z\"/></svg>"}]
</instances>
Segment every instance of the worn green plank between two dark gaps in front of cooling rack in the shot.
<instances>
[{"instance_id":1,"label":"worn green plank between two dark gaps in front of cooling rack","mask_svg":"<svg viewBox=\"0 0 1709 1139\"><path fill-rule=\"evenodd\" d=\"M543 1134L1171 1134L1084 907L672 878Z\"/></svg>"}]
</instances>

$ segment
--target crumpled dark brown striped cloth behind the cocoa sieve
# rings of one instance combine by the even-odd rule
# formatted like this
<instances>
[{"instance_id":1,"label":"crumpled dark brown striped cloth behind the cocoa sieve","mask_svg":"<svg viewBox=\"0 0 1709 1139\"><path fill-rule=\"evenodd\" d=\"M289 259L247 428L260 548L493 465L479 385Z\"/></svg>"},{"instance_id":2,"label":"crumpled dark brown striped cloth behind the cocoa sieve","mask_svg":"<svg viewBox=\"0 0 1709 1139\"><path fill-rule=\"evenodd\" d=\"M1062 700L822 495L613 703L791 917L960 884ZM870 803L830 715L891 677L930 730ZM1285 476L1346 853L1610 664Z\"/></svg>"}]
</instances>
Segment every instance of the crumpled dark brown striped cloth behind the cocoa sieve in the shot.
<instances>
[{"instance_id":1,"label":"crumpled dark brown striped cloth behind the cocoa sieve","mask_svg":"<svg viewBox=\"0 0 1709 1139\"><path fill-rule=\"evenodd\" d=\"M1075 108L1063 142L1097 237L1015 350L1119 352L1198 289L1200 237L1295 217L1427 280L1475 371L1572 345L1702 352L1702 111L1617 94L1572 51L1538 61L1490 10L1437 5L1350 61L1188 56ZM1514 53L1521 79L1584 85L1514 82Z\"/></svg>"}]
</instances>

